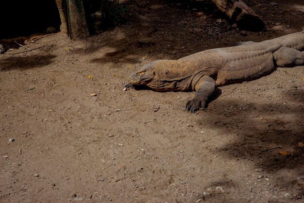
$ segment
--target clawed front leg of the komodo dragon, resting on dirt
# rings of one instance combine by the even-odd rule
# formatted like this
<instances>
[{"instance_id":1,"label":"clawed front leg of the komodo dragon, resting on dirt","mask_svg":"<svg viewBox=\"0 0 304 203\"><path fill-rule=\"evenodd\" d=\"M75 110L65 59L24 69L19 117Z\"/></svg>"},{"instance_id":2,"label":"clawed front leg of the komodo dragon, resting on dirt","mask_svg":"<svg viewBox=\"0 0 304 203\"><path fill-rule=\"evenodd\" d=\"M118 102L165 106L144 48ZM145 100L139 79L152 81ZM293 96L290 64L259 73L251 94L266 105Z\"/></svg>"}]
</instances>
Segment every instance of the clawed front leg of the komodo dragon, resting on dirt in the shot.
<instances>
[{"instance_id":1,"label":"clawed front leg of the komodo dragon, resting on dirt","mask_svg":"<svg viewBox=\"0 0 304 203\"><path fill-rule=\"evenodd\" d=\"M200 107L204 108L208 97L214 92L215 81L209 76L203 76L195 85L196 94L194 98L187 102L186 109L195 113Z\"/></svg>"}]
</instances>

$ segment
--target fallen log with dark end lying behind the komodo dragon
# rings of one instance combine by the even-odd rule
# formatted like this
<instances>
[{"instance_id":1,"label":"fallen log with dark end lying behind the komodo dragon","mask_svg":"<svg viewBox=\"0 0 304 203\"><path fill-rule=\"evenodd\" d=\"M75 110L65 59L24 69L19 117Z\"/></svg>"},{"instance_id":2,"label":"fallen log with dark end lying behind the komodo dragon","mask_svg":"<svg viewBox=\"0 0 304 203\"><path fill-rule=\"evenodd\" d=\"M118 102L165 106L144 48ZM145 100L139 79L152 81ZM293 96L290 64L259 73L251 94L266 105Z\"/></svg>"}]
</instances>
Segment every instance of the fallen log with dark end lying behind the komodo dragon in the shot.
<instances>
[{"instance_id":1,"label":"fallen log with dark end lying behind the komodo dragon","mask_svg":"<svg viewBox=\"0 0 304 203\"><path fill-rule=\"evenodd\" d=\"M260 32L265 30L264 21L241 0L212 0L212 2L239 30Z\"/></svg>"}]
</instances>

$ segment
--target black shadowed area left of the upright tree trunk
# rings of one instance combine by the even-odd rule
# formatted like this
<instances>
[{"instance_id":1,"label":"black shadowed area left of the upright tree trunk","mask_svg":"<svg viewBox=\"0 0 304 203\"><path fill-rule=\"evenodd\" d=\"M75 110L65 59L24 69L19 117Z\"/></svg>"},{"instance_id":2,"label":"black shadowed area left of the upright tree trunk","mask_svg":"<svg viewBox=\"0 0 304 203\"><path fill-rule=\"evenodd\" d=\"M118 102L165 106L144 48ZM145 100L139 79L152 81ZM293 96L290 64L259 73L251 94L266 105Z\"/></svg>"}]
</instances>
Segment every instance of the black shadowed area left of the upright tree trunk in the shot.
<instances>
[{"instance_id":1,"label":"black shadowed area left of the upright tree trunk","mask_svg":"<svg viewBox=\"0 0 304 203\"><path fill-rule=\"evenodd\" d=\"M0 39L44 33L61 24L55 0L2 1L0 8Z\"/></svg>"}]
</instances>

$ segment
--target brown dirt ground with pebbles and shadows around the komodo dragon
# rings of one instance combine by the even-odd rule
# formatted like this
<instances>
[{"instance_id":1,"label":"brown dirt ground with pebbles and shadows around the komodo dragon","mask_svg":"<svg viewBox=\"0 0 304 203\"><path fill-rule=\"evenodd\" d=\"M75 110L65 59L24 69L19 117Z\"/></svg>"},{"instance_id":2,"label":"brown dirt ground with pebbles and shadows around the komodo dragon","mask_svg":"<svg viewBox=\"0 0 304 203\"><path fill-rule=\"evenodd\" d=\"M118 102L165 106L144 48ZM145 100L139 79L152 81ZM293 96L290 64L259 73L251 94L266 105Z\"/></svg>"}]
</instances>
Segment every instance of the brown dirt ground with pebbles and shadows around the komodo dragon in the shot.
<instances>
[{"instance_id":1,"label":"brown dirt ground with pebbles and shadows around the komodo dragon","mask_svg":"<svg viewBox=\"0 0 304 203\"><path fill-rule=\"evenodd\" d=\"M303 66L220 87L196 114L194 92L123 91L152 60L304 30L303 0L245 2L266 32L200 1L133 0L99 35L1 54L0 202L304 202Z\"/></svg>"}]
</instances>

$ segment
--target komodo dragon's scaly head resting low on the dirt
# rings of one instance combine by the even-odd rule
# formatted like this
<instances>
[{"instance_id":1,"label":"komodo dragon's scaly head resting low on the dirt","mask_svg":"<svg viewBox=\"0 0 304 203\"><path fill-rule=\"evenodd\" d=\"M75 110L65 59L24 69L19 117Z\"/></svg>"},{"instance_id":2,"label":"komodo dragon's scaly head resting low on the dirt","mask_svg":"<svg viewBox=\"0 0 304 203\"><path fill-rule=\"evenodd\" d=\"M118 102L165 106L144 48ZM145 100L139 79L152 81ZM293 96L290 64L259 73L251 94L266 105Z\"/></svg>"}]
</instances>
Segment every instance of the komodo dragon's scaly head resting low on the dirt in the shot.
<instances>
[{"instance_id":1,"label":"komodo dragon's scaly head resting low on the dirt","mask_svg":"<svg viewBox=\"0 0 304 203\"><path fill-rule=\"evenodd\" d=\"M177 69L174 60L156 60L143 66L129 77L130 85L147 85L157 91L167 91L174 88L174 70Z\"/></svg>"}]
</instances>

